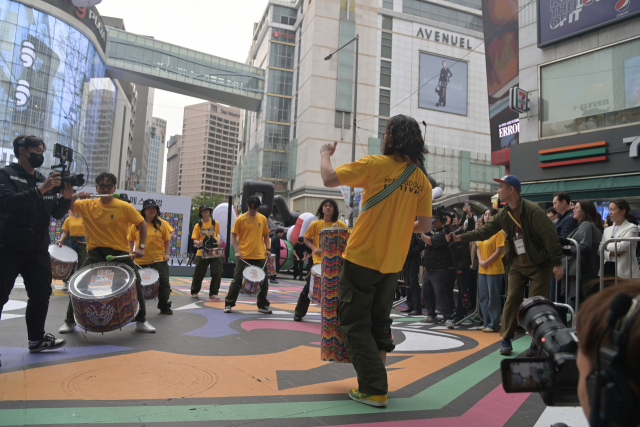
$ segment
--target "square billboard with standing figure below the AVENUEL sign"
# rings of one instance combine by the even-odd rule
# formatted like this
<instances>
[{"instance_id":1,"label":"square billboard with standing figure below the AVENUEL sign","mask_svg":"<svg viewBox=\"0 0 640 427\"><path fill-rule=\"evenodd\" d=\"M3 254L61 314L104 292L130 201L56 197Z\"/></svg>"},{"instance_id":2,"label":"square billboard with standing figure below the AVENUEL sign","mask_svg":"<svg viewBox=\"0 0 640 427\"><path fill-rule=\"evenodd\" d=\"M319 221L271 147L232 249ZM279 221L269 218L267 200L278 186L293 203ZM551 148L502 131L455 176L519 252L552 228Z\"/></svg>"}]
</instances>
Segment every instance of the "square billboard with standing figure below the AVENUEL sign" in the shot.
<instances>
[{"instance_id":1,"label":"square billboard with standing figure below the AVENUEL sign","mask_svg":"<svg viewBox=\"0 0 640 427\"><path fill-rule=\"evenodd\" d=\"M468 69L466 62L420 52L418 107L466 116Z\"/></svg>"}]
</instances>

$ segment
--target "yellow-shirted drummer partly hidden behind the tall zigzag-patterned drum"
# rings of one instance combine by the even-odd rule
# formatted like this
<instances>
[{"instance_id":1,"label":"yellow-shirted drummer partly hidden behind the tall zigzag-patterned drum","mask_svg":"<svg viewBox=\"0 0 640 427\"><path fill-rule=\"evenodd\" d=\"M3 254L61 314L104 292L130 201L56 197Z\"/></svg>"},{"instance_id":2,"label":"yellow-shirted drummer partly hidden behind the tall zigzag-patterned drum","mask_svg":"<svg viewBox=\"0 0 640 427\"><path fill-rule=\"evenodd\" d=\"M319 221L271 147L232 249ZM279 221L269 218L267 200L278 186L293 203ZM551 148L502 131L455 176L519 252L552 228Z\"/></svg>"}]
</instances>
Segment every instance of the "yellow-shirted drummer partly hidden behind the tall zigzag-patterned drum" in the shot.
<instances>
[{"instance_id":1,"label":"yellow-shirted drummer partly hidden behind the tall zigzag-patterned drum","mask_svg":"<svg viewBox=\"0 0 640 427\"><path fill-rule=\"evenodd\" d=\"M304 234L304 244L313 252L313 265L320 264L322 262L322 250L320 249L320 232L328 227L347 227L342 221L338 220L338 204L333 199L325 199L318 206L318 212L316 212L317 220L313 221L307 232ZM298 304L293 315L293 320L301 322L302 318L307 315L309 310L309 290L310 290L311 275L307 276L307 284L302 288L300 296L298 297ZM314 284L318 286L319 284Z\"/></svg>"}]
</instances>

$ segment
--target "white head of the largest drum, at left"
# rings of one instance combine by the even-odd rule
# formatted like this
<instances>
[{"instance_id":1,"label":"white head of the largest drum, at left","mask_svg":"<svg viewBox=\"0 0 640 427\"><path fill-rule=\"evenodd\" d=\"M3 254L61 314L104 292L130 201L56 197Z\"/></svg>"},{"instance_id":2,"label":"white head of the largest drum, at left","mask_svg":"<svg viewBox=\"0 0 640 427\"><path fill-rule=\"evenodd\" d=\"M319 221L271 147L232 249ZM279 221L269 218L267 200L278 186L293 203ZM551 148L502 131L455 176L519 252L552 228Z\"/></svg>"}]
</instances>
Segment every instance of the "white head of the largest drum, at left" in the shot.
<instances>
[{"instance_id":1,"label":"white head of the largest drum, at left","mask_svg":"<svg viewBox=\"0 0 640 427\"><path fill-rule=\"evenodd\" d=\"M69 279L69 293L81 300L97 300L120 295L135 283L128 265L101 262L83 268Z\"/></svg>"}]
</instances>

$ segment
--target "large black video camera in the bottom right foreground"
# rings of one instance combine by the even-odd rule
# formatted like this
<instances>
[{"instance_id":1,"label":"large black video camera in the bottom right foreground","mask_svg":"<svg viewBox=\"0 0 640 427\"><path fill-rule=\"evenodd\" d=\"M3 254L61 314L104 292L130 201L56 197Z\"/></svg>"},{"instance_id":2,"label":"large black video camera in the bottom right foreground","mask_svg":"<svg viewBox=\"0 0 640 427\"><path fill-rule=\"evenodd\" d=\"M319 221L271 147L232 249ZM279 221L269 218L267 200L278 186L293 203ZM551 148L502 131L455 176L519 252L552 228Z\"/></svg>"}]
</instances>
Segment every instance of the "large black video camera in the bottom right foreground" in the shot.
<instances>
[{"instance_id":1,"label":"large black video camera in the bottom right foreground","mask_svg":"<svg viewBox=\"0 0 640 427\"><path fill-rule=\"evenodd\" d=\"M540 296L520 304L518 322L544 357L504 359L500 363L504 390L538 392L547 406L580 406L575 329L567 328L553 303Z\"/></svg>"}]
</instances>

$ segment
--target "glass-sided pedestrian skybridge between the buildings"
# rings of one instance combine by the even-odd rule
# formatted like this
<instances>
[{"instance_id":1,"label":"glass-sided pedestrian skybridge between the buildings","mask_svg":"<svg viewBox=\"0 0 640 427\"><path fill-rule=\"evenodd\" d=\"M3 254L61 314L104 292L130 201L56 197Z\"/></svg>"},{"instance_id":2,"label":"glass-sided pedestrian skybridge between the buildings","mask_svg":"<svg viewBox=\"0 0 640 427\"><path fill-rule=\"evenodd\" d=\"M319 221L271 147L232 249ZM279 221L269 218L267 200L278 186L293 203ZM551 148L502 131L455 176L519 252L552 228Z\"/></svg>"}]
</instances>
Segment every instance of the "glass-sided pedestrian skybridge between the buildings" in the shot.
<instances>
[{"instance_id":1,"label":"glass-sided pedestrian skybridge between the buildings","mask_svg":"<svg viewBox=\"0 0 640 427\"><path fill-rule=\"evenodd\" d=\"M265 70L107 27L112 78L258 111Z\"/></svg>"}]
</instances>

